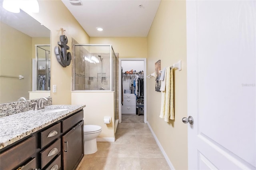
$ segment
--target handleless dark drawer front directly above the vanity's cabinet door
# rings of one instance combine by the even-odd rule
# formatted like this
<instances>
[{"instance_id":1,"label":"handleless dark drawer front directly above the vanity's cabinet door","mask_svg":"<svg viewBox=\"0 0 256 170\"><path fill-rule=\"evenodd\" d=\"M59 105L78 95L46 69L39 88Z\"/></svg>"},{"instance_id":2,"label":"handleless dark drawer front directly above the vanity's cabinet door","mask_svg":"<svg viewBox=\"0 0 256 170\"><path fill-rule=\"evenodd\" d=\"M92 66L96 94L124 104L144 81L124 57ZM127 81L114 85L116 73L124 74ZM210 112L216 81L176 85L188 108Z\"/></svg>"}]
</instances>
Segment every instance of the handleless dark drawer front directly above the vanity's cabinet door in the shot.
<instances>
[{"instance_id":1,"label":"handleless dark drawer front directly above the vanity's cabinet door","mask_svg":"<svg viewBox=\"0 0 256 170\"><path fill-rule=\"evenodd\" d=\"M84 119L84 111L80 111L76 113L75 115L72 115L68 119L65 119L62 121L62 132L66 132L71 127L76 125L78 122L82 121Z\"/></svg>"}]
</instances>

